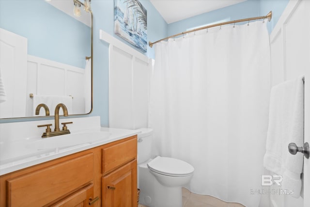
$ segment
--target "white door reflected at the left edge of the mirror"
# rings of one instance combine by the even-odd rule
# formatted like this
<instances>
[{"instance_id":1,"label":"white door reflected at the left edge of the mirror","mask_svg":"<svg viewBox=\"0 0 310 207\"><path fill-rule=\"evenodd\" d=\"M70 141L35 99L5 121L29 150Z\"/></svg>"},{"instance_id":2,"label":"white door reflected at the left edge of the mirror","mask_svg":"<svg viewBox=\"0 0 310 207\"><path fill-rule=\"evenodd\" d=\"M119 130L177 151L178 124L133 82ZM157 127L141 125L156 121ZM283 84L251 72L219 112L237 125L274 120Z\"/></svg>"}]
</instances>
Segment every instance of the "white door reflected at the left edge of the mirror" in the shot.
<instances>
[{"instance_id":1,"label":"white door reflected at the left edge of the mirror","mask_svg":"<svg viewBox=\"0 0 310 207\"><path fill-rule=\"evenodd\" d=\"M27 38L0 28L0 68L6 94L6 101L0 103L0 118L25 117Z\"/></svg>"}]
</instances>

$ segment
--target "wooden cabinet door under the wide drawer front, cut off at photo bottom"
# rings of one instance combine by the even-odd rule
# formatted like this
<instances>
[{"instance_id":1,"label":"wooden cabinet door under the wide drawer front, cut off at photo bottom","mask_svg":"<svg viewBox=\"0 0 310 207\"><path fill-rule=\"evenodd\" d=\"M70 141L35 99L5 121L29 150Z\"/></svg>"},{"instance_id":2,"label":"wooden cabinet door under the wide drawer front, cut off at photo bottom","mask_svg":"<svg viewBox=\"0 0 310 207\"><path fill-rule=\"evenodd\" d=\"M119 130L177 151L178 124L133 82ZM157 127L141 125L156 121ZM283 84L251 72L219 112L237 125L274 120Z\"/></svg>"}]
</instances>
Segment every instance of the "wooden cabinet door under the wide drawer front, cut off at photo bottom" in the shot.
<instances>
[{"instance_id":1,"label":"wooden cabinet door under the wide drawer front, cut off at photo bottom","mask_svg":"<svg viewBox=\"0 0 310 207\"><path fill-rule=\"evenodd\" d=\"M93 201L91 204L94 204L97 199L93 199L93 184L90 184L52 205L52 207L89 207L89 203Z\"/></svg>"}]
</instances>

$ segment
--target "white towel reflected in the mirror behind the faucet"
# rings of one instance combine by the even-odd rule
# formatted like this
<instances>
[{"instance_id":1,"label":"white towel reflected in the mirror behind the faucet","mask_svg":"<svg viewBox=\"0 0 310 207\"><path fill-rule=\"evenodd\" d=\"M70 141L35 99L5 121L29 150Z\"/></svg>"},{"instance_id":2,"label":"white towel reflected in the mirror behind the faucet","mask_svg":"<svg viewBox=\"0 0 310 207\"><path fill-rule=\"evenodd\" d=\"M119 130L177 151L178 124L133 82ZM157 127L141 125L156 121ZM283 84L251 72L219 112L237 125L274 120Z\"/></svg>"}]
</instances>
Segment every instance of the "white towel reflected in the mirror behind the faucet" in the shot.
<instances>
[{"instance_id":1,"label":"white towel reflected in the mirror behind the faucet","mask_svg":"<svg viewBox=\"0 0 310 207\"><path fill-rule=\"evenodd\" d=\"M55 114L55 108L57 104L63 103L68 110L68 114L72 114L72 97L71 96L46 96L46 95L33 95L32 98L32 115L35 115L35 109L36 107L44 103L47 105L49 109L49 115L54 115ZM63 111L62 108L60 108L59 114L62 115ZM45 111L44 109L40 110L39 116L45 116Z\"/></svg>"}]
</instances>

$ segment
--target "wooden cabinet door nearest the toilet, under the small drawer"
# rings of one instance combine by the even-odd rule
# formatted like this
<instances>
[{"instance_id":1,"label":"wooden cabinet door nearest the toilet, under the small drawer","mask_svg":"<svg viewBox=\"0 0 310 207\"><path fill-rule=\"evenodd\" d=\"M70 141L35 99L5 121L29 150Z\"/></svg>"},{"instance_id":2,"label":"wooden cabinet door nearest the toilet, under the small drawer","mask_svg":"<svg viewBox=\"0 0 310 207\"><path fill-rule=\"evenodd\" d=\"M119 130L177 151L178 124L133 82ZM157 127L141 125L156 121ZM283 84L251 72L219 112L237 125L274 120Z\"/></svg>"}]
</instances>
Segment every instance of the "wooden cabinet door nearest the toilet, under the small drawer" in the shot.
<instances>
[{"instance_id":1,"label":"wooden cabinet door nearest the toilet, under the small drawer","mask_svg":"<svg viewBox=\"0 0 310 207\"><path fill-rule=\"evenodd\" d=\"M137 207L137 160L102 178L102 207Z\"/></svg>"}]
</instances>

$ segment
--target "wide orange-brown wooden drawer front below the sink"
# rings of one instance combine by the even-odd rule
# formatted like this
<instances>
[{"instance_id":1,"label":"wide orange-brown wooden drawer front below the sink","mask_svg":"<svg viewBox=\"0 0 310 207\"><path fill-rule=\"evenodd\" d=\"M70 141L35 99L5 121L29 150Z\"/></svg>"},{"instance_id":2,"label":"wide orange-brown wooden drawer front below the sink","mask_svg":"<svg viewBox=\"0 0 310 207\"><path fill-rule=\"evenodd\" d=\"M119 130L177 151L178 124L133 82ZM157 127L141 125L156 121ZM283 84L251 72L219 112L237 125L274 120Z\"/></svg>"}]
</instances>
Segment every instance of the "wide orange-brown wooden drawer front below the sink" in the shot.
<instances>
[{"instance_id":1,"label":"wide orange-brown wooden drawer front below the sink","mask_svg":"<svg viewBox=\"0 0 310 207\"><path fill-rule=\"evenodd\" d=\"M93 153L7 180L7 205L42 207L93 180Z\"/></svg>"}]
</instances>

